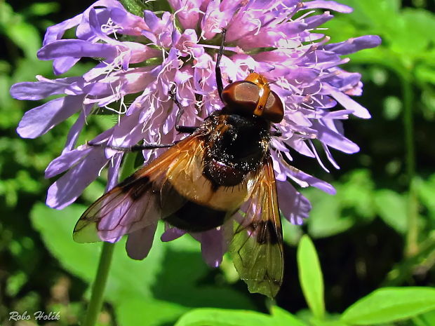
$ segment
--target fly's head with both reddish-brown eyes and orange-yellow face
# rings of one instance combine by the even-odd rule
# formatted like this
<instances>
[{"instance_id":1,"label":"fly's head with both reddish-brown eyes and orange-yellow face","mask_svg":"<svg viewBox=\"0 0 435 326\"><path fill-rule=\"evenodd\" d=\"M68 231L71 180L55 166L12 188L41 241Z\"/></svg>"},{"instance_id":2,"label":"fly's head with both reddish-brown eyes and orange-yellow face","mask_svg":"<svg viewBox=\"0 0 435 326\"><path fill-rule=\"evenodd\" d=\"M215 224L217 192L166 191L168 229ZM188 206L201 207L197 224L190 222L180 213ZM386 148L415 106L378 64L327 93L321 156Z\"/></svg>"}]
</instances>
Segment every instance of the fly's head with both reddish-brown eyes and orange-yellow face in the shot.
<instances>
[{"instance_id":1,"label":"fly's head with both reddish-brown eyes and orange-yellow face","mask_svg":"<svg viewBox=\"0 0 435 326\"><path fill-rule=\"evenodd\" d=\"M283 119L283 103L270 89L265 76L250 73L244 81L230 83L222 91L227 109L235 114L253 114L279 123Z\"/></svg>"}]
</instances>

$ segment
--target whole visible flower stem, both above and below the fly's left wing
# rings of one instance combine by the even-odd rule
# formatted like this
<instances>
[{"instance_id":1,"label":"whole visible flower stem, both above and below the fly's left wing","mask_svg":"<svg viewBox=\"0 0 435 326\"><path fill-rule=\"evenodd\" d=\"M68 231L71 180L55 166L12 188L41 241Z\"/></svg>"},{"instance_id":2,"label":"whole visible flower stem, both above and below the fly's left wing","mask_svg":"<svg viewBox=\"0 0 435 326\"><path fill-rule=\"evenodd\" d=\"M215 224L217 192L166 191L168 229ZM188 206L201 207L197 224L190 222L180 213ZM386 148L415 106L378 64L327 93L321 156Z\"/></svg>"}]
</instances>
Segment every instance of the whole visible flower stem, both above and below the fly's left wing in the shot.
<instances>
[{"instance_id":1,"label":"whole visible flower stem, both above and below the fly's left wing","mask_svg":"<svg viewBox=\"0 0 435 326\"><path fill-rule=\"evenodd\" d=\"M134 170L136 155L129 153L126 155L121 170L121 179L125 179ZM91 301L89 301L83 326L94 326L101 311L102 300L104 298L107 277L109 276L110 263L112 262L114 243L102 243L100 262L98 262L97 274L92 285Z\"/></svg>"}]
</instances>

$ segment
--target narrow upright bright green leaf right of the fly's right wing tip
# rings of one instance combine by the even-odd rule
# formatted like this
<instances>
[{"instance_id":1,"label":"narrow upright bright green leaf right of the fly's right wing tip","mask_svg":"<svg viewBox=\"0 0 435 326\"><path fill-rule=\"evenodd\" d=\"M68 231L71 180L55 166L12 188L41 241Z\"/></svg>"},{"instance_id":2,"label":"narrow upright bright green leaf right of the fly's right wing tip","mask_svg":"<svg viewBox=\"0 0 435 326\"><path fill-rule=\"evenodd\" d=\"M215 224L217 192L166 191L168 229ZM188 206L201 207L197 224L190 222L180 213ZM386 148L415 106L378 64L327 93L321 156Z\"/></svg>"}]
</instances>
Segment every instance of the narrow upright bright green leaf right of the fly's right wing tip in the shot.
<instances>
[{"instance_id":1,"label":"narrow upright bright green leaf right of the fly's right wing tip","mask_svg":"<svg viewBox=\"0 0 435 326\"><path fill-rule=\"evenodd\" d=\"M323 276L316 248L309 236L302 236L297 247L297 266L305 300L316 318L323 318L325 303L323 299Z\"/></svg>"}]
</instances>

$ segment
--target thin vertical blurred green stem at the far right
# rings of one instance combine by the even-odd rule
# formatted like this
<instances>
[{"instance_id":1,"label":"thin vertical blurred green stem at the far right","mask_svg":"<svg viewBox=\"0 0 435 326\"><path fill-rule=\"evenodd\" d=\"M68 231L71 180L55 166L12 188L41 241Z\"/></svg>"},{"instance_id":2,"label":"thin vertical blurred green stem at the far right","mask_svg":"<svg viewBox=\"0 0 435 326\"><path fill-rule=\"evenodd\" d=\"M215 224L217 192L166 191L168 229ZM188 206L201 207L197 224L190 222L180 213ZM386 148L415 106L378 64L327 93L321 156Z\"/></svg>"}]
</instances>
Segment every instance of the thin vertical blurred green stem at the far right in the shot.
<instances>
[{"instance_id":1,"label":"thin vertical blurred green stem at the far right","mask_svg":"<svg viewBox=\"0 0 435 326\"><path fill-rule=\"evenodd\" d=\"M403 92L403 128L406 147L406 175L408 177L408 232L406 234L406 257L418 252L418 201L415 186L415 147L413 121L413 87L410 76L401 75Z\"/></svg>"}]
</instances>

